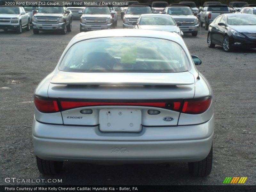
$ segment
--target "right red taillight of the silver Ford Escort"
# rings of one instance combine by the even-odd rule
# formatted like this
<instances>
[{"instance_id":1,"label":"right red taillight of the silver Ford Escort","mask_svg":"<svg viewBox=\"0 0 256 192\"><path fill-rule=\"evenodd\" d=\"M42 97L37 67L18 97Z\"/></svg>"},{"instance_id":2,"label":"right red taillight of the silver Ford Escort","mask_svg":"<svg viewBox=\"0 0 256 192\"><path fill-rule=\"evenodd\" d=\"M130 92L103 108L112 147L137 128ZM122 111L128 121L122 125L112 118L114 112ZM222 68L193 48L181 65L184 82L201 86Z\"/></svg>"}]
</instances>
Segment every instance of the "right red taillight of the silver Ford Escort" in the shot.
<instances>
[{"instance_id":1,"label":"right red taillight of the silver Ford Escort","mask_svg":"<svg viewBox=\"0 0 256 192\"><path fill-rule=\"evenodd\" d=\"M184 100L181 112L189 114L204 113L210 107L211 101L212 99L210 97L194 100Z\"/></svg>"}]
</instances>

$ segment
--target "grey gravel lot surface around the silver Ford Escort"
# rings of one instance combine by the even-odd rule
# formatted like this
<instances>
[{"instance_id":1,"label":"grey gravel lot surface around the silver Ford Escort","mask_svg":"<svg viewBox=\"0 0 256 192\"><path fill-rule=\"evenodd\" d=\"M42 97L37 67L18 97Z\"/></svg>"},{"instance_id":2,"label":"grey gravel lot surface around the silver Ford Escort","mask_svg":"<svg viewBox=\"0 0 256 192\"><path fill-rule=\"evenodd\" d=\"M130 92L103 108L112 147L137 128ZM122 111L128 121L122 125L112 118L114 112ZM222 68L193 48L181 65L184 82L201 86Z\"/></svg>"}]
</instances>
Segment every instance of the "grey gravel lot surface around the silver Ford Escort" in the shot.
<instances>
[{"instance_id":1,"label":"grey gravel lot surface around the silver Ford Escort","mask_svg":"<svg viewBox=\"0 0 256 192\"><path fill-rule=\"evenodd\" d=\"M226 53L220 46L210 49L204 28L197 37L189 34L184 40L191 54L203 60L197 68L214 93L214 160L208 177L190 177L186 163L104 166L65 162L59 175L40 174L31 137L33 92L77 33L79 20L73 21L67 35L0 30L0 185L29 184L5 183L6 177L57 178L62 185L221 185L228 176L248 177L245 184L256 184L256 50Z\"/></svg>"}]
</instances>

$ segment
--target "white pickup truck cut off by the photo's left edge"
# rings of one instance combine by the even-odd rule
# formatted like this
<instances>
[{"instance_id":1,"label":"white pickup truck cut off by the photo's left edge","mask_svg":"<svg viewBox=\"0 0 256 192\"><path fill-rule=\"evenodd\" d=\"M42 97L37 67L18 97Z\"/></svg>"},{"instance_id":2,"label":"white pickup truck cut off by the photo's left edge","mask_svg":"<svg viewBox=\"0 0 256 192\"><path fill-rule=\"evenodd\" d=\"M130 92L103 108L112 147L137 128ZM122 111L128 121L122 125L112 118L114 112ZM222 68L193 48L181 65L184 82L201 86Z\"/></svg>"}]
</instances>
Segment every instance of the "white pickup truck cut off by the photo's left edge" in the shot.
<instances>
[{"instance_id":1,"label":"white pickup truck cut off by the photo's left edge","mask_svg":"<svg viewBox=\"0 0 256 192\"><path fill-rule=\"evenodd\" d=\"M23 7L15 5L0 6L0 29L12 29L22 33L22 28L30 30L29 13L26 13Z\"/></svg>"}]
</instances>

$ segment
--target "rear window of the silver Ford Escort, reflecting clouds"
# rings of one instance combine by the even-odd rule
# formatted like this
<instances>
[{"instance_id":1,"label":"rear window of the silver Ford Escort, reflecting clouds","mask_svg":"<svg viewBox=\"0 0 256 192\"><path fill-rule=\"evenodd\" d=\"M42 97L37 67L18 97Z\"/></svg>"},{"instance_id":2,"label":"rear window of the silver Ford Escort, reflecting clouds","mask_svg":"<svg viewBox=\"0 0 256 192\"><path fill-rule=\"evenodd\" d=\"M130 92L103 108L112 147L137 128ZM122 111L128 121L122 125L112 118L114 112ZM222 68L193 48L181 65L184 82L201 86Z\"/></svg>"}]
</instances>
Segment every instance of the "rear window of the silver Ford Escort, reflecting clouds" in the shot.
<instances>
[{"instance_id":1,"label":"rear window of the silver Ford Escort, reflecting clouds","mask_svg":"<svg viewBox=\"0 0 256 192\"><path fill-rule=\"evenodd\" d=\"M122 42L122 43L120 43ZM69 72L182 72L189 61L172 41L148 37L107 37L78 42L60 70Z\"/></svg>"}]
</instances>

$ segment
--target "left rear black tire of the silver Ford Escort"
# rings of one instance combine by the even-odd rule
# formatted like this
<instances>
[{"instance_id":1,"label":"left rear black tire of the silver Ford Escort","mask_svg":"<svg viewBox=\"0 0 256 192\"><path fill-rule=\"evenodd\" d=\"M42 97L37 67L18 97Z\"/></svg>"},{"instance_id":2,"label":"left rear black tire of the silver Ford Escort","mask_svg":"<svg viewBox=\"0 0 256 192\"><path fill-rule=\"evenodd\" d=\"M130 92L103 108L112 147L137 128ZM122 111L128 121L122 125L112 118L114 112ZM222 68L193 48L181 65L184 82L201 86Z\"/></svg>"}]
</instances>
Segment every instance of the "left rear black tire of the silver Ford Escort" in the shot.
<instances>
[{"instance_id":1,"label":"left rear black tire of the silver Ford Escort","mask_svg":"<svg viewBox=\"0 0 256 192\"><path fill-rule=\"evenodd\" d=\"M36 164L38 171L44 175L55 175L62 170L62 161L48 161L40 159L36 156Z\"/></svg>"}]
</instances>

